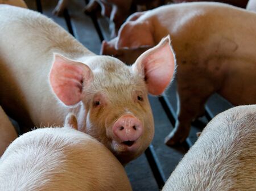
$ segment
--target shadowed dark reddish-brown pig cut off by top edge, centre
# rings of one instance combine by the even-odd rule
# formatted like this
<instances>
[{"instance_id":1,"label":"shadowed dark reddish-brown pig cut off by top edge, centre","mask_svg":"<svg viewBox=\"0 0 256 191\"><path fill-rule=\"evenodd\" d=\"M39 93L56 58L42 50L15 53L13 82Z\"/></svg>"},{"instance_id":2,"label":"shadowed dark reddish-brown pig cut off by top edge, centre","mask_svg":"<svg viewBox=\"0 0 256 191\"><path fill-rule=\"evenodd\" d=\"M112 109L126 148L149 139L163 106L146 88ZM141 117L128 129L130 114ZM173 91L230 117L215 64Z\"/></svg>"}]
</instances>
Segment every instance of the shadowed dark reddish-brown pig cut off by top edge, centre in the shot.
<instances>
[{"instance_id":1,"label":"shadowed dark reddish-brown pig cut off by top edge, centre","mask_svg":"<svg viewBox=\"0 0 256 191\"><path fill-rule=\"evenodd\" d=\"M59 0L57 6L53 10L55 15L63 15L64 9L67 7L69 0ZM101 7L101 15L110 19L110 31L111 36L117 35L118 29L125 19L134 12L133 6L143 6L144 9L154 9L160 5L163 5L163 0L91 0L85 7L84 12L86 14L92 14Z\"/></svg>"}]
</instances>

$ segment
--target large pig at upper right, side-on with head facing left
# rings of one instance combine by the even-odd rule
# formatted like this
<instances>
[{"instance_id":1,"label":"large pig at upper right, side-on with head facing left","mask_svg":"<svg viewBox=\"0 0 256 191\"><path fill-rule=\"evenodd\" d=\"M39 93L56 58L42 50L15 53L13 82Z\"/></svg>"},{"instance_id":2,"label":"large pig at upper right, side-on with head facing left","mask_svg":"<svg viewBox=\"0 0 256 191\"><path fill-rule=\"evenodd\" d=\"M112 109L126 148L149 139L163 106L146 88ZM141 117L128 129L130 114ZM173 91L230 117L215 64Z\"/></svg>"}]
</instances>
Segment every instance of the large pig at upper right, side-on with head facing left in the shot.
<instances>
[{"instance_id":1,"label":"large pig at upper right, side-on with head facing left","mask_svg":"<svg viewBox=\"0 0 256 191\"><path fill-rule=\"evenodd\" d=\"M131 15L101 54L133 63L170 35L177 61L177 120L166 145L185 141L217 92L233 105L256 103L256 14L214 2L166 5ZM126 60L127 59L127 60Z\"/></svg>"}]
</instances>

